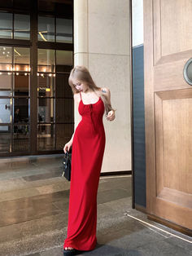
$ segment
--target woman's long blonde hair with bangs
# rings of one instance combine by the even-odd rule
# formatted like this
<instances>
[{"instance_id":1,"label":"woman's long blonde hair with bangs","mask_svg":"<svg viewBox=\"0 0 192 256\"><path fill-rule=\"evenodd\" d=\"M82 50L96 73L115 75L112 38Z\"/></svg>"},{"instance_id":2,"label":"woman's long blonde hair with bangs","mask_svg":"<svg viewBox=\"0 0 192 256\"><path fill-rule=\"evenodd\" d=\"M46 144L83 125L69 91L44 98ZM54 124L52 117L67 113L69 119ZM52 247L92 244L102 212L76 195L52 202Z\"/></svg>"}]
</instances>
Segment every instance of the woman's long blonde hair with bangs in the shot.
<instances>
[{"instance_id":1,"label":"woman's long blonde hair with bangs","mask_svg":"<svg viewBox=\"0 0 192 256\"><path fill-rule=\"evenodd\" d=\"M91 75L89 73L89 70L85 66L82 66L82 65L75 66L74 68L72 68L71 73L68 77L68 83L72 87L72 92L73 92L73 94L76 94L76 93L79 93L79 90L77 90L76 87L73 85L73 83L72 83L73 78L78 79L80 82L84 82L87 86L89 86L89 89L94 90L96 92L96 94L98 91L99 96L103 100L106 115L111 110L116 111L116 109L113 109L111 107L111 104L109 103L109 101L107 99L107 96L101 94L101 91L100 91L101 88L96 86L93 78L91 77Z\"/></svg>"}]
</instances>

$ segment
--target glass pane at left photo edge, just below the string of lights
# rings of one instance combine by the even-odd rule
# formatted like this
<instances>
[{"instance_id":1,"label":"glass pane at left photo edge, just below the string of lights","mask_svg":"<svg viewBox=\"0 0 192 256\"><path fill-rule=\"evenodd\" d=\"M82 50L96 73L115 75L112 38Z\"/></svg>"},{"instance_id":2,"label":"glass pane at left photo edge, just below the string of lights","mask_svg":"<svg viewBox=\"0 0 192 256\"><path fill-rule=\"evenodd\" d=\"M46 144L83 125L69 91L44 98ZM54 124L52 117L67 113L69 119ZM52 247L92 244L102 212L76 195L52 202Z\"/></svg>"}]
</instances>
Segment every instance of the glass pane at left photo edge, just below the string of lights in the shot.
<instances>
[{"instance_id":1,"label":"glass pane at left photo edge, just below the string of lights","mask_svg":"<svg viewBox=\"0 0 192 256\"><path fill-rule=\"evenodd\" d=\"M11 75L0 72L0 96L11 95Z\"/></svg>"}]
</instances>

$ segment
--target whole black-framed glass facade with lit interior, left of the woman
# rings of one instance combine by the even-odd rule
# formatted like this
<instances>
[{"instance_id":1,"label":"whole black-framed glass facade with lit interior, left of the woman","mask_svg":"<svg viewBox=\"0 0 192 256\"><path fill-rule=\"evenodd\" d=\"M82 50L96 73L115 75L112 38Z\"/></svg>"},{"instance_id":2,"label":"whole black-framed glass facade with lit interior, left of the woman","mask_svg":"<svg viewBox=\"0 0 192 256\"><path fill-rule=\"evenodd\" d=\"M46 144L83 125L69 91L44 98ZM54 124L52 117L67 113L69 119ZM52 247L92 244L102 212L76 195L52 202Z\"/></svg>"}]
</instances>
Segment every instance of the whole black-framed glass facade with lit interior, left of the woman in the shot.
<instances>
[{"instance_id":1,"label":"whole black-framed glass facade with lit interior, left of the woman","mask_svg":"<svg viewBox=\"0 0 192 256\"><path fill-rule=\"evenodd\" d=\"M74 128L72 18L23 12L0 11L0 157L63 152Z\"/></svg>"}]
</instances>

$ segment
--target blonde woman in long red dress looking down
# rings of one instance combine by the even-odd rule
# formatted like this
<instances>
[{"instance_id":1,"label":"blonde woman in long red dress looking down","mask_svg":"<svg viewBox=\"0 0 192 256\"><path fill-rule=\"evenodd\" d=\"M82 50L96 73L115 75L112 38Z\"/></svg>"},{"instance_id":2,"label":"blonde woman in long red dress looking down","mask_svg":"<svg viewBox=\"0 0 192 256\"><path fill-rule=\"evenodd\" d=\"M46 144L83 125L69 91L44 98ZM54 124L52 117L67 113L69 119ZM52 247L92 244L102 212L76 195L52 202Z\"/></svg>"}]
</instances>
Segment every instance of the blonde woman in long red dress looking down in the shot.
<instances>
[{"instance_id":1,"label":"blonde woman in long red dress looking down","mask_svg":"<svg viewBox=\"0 0 192 256\"><path fill-rule=\"evenodd\" d=\"M72 174L68 209L68 237L63 255L94 249L97 227L97 192L106 143L103 114L115 119L110 90L95 85L84 66L72 68L68 79L81 120L63 151L72 147Z\"/></svg>"}]
</instances>

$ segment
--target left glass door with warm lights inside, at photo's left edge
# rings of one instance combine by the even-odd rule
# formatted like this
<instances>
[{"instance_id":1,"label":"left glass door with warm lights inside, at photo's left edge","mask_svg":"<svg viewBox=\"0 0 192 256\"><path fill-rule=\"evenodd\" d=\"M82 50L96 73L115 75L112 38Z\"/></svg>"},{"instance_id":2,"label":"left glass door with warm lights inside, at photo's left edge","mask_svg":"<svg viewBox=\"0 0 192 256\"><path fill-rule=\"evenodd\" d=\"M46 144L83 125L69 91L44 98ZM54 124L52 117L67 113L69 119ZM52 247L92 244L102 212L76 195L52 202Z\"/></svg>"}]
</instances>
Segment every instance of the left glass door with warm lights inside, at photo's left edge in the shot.
<instances>
[{"instance_id":1,"label":"left glass door with warm lights inside, at photo's left edge","mask_svg":"<svg viewBox=\"0 0 192 256\"><path fill-rule=\"evenodd\" d=\"M0 46L0 153L28 152L30 49Z\"/></svg>"}]
</instances>

